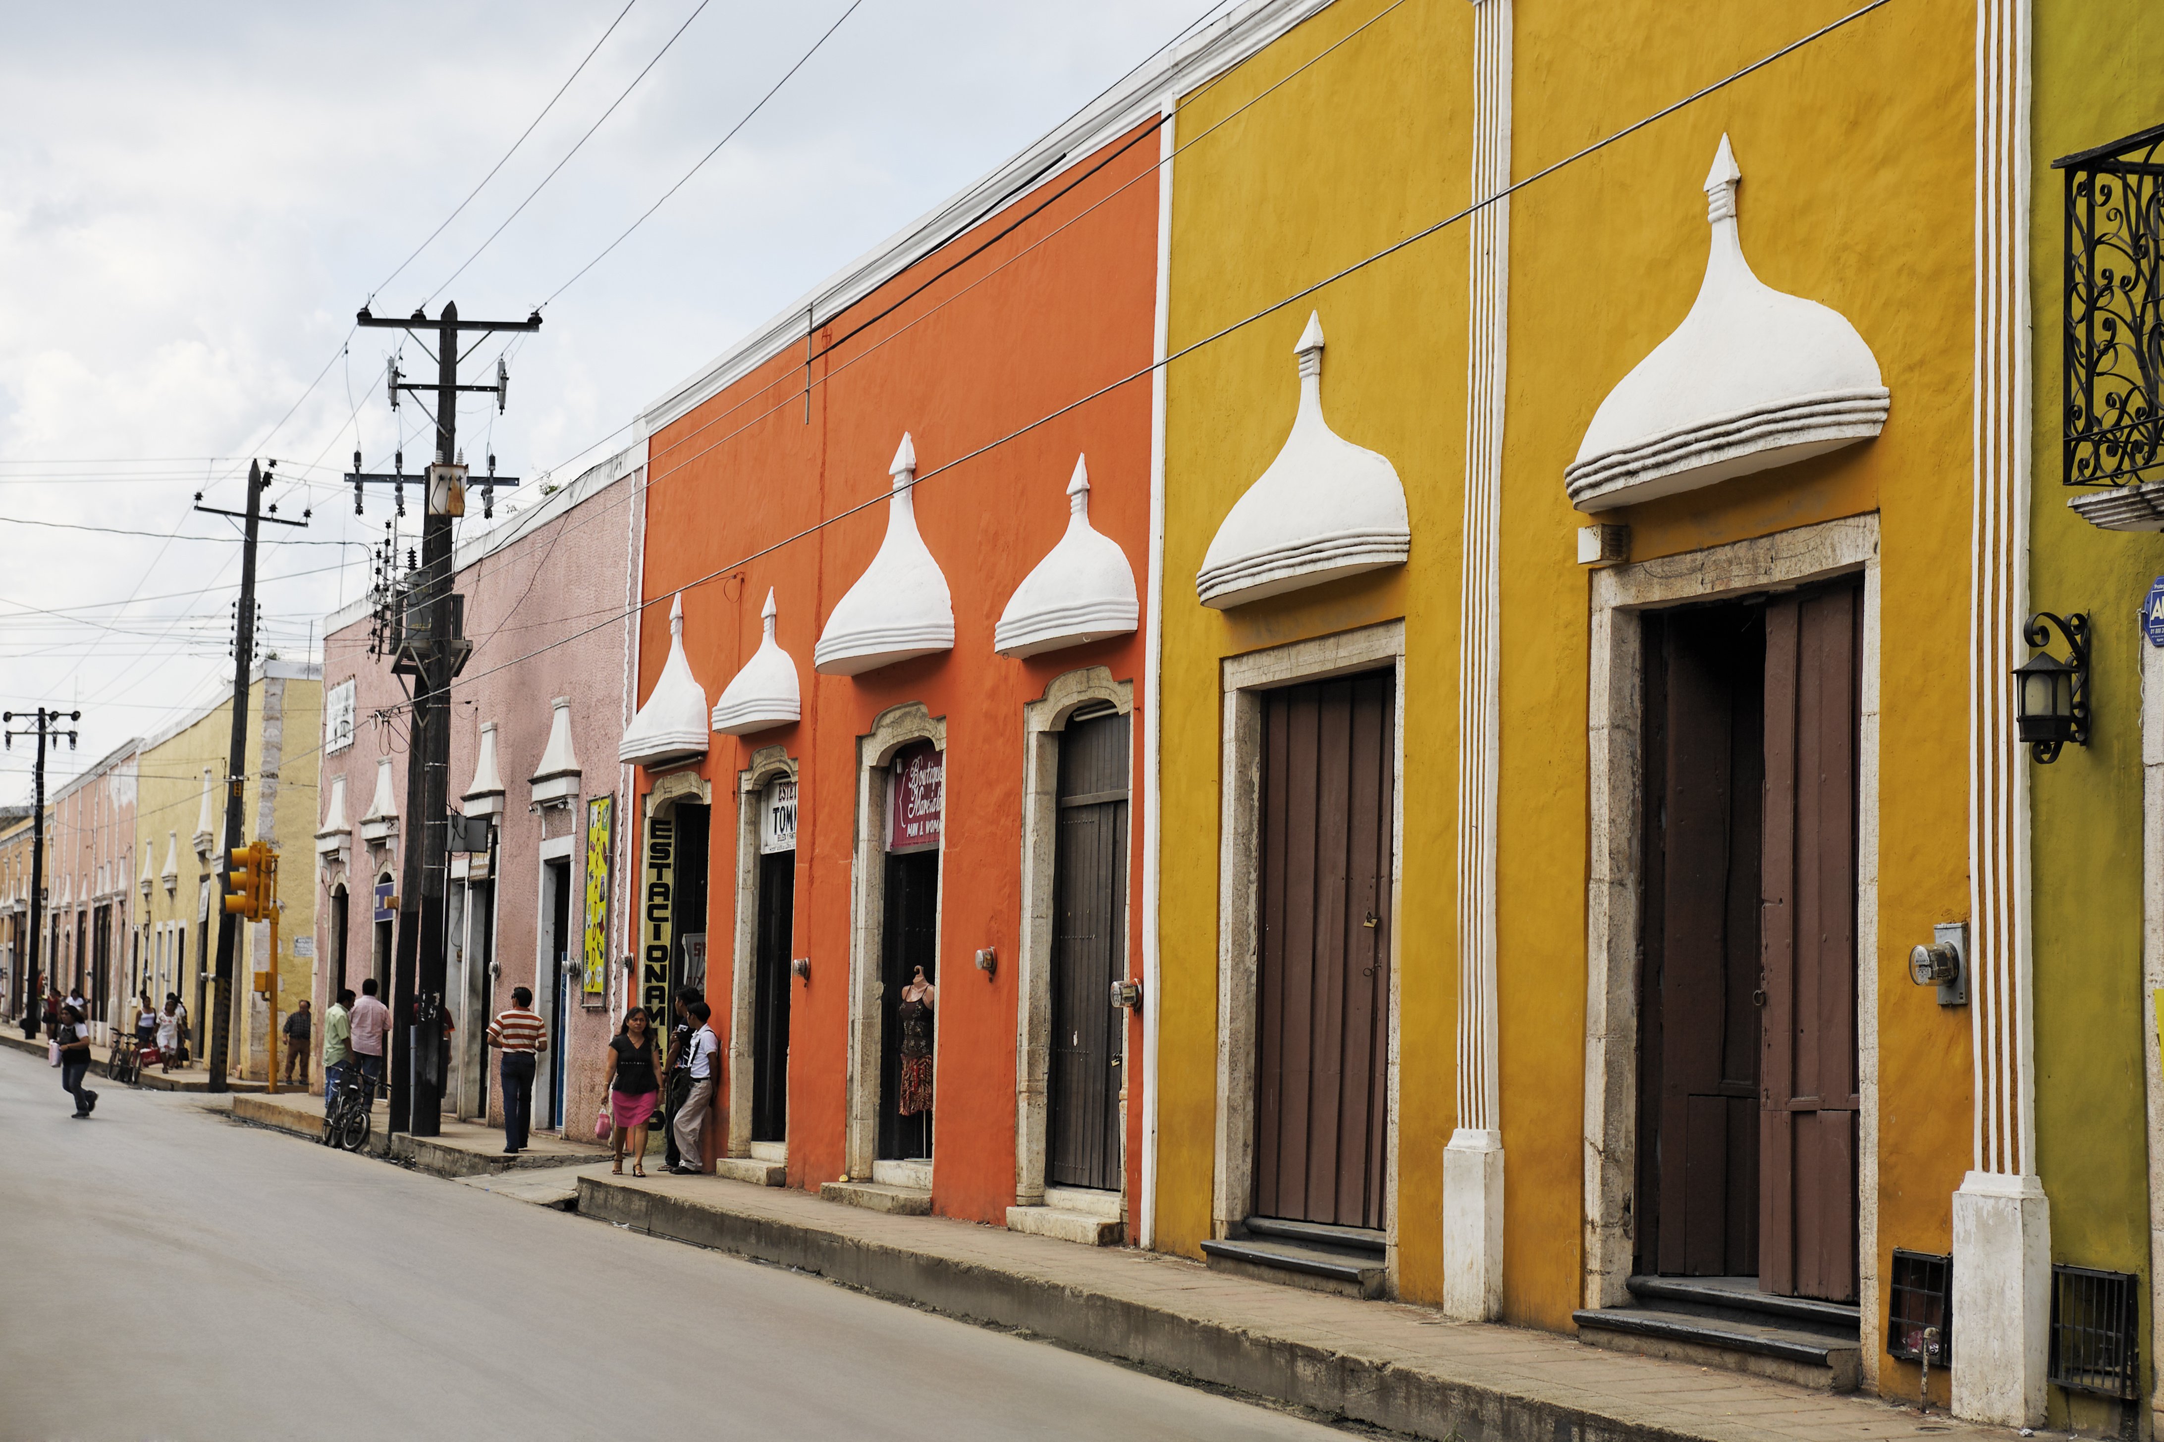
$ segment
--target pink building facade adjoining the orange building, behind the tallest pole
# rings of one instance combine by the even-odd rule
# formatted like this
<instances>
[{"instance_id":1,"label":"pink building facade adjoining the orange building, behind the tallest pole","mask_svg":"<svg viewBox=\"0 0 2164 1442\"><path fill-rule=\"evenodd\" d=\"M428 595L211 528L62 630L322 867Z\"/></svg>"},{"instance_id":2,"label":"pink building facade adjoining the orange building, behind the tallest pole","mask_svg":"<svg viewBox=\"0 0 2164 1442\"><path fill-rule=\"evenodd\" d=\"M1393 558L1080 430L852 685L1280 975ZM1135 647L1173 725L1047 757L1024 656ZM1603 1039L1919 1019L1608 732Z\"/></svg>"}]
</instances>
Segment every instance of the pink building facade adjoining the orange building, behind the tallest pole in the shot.
<instances>
[{"instance_id":1,"label":"pink building facade adjoining the orange building, behind the tallest pole","mask_svg":"<svg viewBox=\"0 0 2164 1442\"><path fill-rule=\"evenodd\" d=\"M593 1126L615 1016L623 1010L630 789L617 763L632 636L623 620L638 556L643 445L584 471L457 549L452 588L474 642L450 696L450 796L489 819L489 850L452 852L446 1007L452 1072L444 1111L502 1122L489 1016L528 986L550 1025L535 1077L535 1131ZM325 623L325 750L316 832L318 1014L340 986L377 977L390 999L407 806L411 711L390 657L370 655L372 603ZM591 1133L589 1133L591 1135Z\"/></svg>"}]
</instances>

